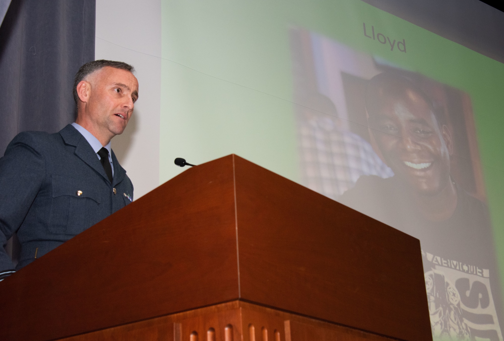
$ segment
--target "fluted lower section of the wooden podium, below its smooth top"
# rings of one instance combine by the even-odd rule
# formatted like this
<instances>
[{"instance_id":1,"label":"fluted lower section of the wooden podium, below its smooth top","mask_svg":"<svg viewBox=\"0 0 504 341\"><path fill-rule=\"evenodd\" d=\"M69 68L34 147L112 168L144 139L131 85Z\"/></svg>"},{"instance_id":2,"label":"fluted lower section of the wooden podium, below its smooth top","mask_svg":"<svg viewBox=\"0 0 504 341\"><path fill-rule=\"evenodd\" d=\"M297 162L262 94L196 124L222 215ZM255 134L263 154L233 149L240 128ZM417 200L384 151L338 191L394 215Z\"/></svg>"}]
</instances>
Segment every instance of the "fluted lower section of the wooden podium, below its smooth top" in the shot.
<instances>
[{"instance_id":1,"label":"fluted lower section of the wooden podium, below its smooth top","mask_svg":"<svg viewBox=\"0 0 504 341\"><path fill-rule=\"evenodd\" d=\"M231 301L58 341L392 341L329 322Z\"/></svg>"}]
</instances>

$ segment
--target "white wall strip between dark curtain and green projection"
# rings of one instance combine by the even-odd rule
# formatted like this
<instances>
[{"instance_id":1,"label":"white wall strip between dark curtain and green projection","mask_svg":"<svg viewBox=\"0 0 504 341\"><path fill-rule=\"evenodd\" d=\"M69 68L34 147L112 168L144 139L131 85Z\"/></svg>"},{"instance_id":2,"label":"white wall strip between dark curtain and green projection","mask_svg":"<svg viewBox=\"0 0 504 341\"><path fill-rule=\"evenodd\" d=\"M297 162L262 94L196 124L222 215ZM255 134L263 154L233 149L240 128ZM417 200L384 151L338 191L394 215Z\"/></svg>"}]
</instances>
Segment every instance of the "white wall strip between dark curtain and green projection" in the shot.
<instances>
[{"instance_id":1,"label":"white wall strip between dark curtain and green projection","mask_svg":"<svg viewBox=\"0 0 504 341\"><path fill-rule=\"evenodd\" d=\"M161 1L96 0L95 59L136 69L139 100L112 149L135 186L135 199L159 185Z\"/></svg>"}]
</instances>

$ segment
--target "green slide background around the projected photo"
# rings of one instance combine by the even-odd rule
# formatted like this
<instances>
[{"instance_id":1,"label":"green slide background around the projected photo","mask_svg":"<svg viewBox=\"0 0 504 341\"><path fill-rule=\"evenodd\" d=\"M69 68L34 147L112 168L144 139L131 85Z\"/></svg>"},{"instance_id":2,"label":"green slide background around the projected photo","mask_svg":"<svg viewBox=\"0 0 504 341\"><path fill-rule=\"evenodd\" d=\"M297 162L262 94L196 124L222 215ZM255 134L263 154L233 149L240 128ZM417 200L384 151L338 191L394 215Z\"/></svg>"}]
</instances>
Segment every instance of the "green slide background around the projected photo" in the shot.
<instances>
[{"instance_id":1,"label":"green slide background around the projected photo","mask_svg":"<svg viewBox=\"0 0 504 341\"><path fill-rule=\"evenodd\" d=\"M363 35L362 23L407 53ZM467 92L504 283L504 65L359 0L162 0L160 182L237 154L300 181L289 28L302 27Z\"/></svg>"}]
</instances>

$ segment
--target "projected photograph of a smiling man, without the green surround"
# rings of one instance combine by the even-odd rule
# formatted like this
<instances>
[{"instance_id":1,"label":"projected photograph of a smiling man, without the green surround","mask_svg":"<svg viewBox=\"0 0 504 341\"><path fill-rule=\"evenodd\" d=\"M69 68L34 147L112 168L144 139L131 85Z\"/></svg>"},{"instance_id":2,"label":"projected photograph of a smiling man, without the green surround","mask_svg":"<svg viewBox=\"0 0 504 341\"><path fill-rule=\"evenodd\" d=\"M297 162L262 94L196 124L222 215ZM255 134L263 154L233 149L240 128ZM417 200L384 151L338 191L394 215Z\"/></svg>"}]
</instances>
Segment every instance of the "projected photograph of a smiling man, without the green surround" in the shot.
<instances>
[{"instance_id":1,"label":"projected photograph of a smiling man, without the green surround","mask_svg":"<svg viewBox=\"0 0 504 341\"><path fill-rule=\"evenodd\" d=\"M302 183L420 240L435 338L502 340L470 94L305 29L290 46Z\"/></svg>"}]
</instances>

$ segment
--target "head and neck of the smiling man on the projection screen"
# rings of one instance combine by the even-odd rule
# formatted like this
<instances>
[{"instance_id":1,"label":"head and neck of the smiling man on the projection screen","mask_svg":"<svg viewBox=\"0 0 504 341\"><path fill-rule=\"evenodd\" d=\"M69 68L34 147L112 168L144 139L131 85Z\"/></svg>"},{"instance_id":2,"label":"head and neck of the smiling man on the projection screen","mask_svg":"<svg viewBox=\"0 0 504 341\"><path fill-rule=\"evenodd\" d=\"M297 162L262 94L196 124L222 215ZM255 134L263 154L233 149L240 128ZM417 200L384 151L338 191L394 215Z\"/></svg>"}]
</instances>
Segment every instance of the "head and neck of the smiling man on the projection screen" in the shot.
<instances>
[{"instance_id":1,"label":"head and neck of the smiling man on the projection screen","mask_svg":"<svg viewBox=\"0 0 504 341\"><path fill-rule=\"evenodd\" d=\"M429 221L452 217L452 137L429 98L407 79L381 74L369 83L366 109L370 134L416 209Z\"/></svg>"}]
</instances>

